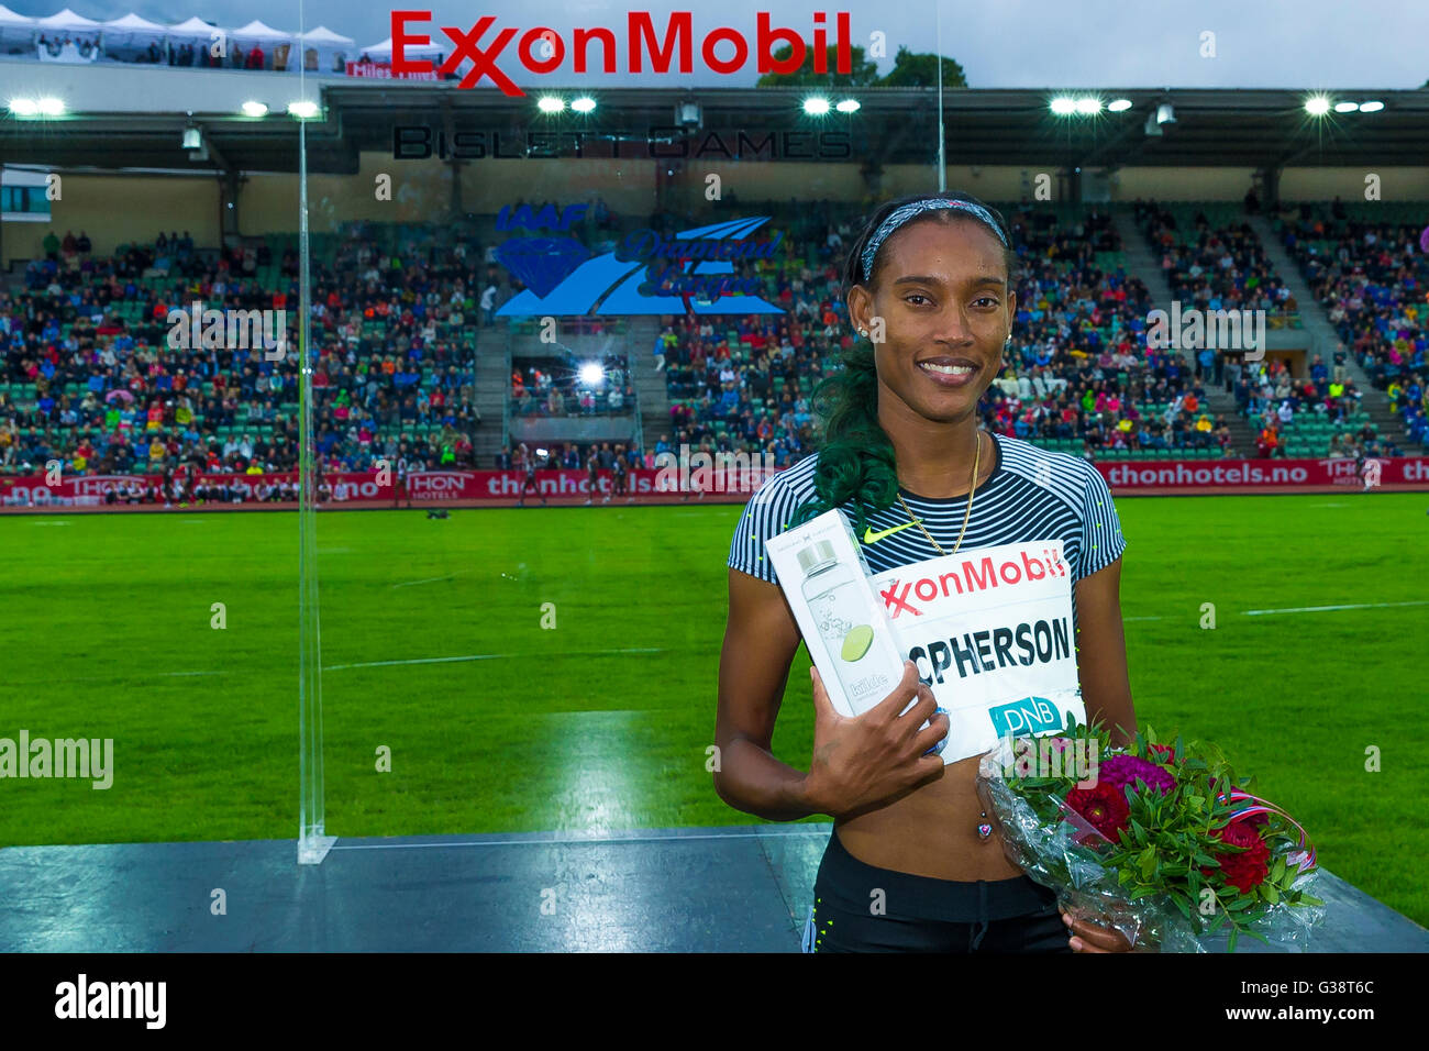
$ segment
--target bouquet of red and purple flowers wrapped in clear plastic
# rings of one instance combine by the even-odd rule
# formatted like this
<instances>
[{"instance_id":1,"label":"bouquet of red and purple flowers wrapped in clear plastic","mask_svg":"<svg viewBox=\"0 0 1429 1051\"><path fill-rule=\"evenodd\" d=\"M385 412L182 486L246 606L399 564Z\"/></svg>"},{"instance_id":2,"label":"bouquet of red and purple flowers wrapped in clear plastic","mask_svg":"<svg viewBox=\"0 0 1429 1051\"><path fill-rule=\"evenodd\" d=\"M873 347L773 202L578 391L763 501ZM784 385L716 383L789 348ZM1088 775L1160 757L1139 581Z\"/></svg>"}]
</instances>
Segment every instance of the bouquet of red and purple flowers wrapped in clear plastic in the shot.
<instances>
[{"instance_id":1,"label":"bouquet of red and purple flowers wrapped in clear plastic","mask_svg":"<svg viewBox=\"0 0 1429 1051\"><path fill-rule=\"evenodd\" d=\"M1290 815L1250 795L1215 745L1150 728L1113 749L1100 724L1005 739L977 794L1007 859L1073 917L1109 919L1133 948L1205 952L1223 927L1303 951L1325 908L1315 848Z\"/></svg>"}]
</instances>

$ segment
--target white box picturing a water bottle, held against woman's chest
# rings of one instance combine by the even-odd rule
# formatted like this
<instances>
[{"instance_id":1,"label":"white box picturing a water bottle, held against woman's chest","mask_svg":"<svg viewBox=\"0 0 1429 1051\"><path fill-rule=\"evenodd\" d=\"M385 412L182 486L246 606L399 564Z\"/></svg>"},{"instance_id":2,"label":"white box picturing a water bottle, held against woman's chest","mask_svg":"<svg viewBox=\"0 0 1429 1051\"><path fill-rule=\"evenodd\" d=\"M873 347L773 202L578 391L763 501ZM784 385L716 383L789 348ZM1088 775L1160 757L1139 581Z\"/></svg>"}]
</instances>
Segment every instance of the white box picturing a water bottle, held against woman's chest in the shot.
<instances>
[{"instance_id":1,"label":"white box picturing a water bottle, held against woman's chest","mask_svg":"<svg viewBox=\"0 0 1429 1051\"><path fill-rule=\"evenodd\" d=\"M765 552L835 709L862 715L892 694L903 653L843 513L779 533Z\"/></svg>"}]
</instances>

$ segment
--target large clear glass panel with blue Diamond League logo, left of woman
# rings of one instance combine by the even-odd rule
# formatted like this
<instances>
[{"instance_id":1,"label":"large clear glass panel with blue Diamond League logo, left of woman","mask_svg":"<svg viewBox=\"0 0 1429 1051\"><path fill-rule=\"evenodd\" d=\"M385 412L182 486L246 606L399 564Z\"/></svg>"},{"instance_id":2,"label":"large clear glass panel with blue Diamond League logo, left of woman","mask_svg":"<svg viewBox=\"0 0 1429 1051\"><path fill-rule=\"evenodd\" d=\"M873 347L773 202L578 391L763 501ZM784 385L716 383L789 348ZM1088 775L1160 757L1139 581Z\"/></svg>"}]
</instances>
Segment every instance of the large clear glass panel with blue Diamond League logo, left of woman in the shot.
<instances>
[{"instance_id":1,"label":"large clear glass panel with blue Diamond League logo, left of woman","mask_svg":"<svg viewBox=\"0 0 1429 1051\"><path fill-rule=\"evenodd\" d=\"M922 92L522 86L350 77L352 149L309 140L342 837L749 821L706 769L735 522L809 446L869 204L937 187Z\"/></svg>"}]
</instances>

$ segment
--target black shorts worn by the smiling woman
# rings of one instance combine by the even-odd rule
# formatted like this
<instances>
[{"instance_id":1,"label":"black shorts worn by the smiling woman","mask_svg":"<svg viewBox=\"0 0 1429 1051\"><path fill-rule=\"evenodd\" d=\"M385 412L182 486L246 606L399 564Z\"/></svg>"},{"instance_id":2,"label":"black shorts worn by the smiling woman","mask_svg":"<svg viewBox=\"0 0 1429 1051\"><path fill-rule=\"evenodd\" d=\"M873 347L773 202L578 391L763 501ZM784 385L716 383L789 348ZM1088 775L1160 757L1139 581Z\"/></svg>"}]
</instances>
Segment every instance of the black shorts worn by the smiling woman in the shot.
<instances>
[{"instance_id":1,"label":"black shorts worn by the smiling woman","mask_svg":"<svg viewBox=\"0 0 1429 1051\"><path fill-rule=\"evenodd\" d=\"M1029 877L957 882L895 872L855 858L837 832L813 894L805 952L1072 952L1056 894Z\"/></svg>"}]
</instances>

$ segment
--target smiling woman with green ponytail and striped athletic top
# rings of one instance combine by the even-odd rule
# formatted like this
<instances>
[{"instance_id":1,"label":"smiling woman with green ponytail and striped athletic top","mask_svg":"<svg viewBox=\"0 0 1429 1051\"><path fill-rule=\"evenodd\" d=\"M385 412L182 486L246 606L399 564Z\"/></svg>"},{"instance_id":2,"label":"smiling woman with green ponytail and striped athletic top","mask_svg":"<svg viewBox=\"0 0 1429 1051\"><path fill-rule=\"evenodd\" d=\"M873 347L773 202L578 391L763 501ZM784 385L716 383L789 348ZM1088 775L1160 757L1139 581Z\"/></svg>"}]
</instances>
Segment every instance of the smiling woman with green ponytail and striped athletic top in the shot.
<instances>
[{"instance_id":1,"label":"smiling woman with green ponytail and striped athletic top","mask_svg":"<svg viewBox=\"0 0 1429 1051\"><path fill-rule=\"evenodd\" d=\"M875 575L936 576L923 563L985 548L1060 551L1072 572L1056 602L1073 625L1076 661L1062 662L1057 675L1069 681L1052 685L1080 689L1087 718L1135 734L1119 605L1125 539L1106 483L1083 460L979 428L979 400L1002 370L1016 312L1016 266L1002 216L972 197L880 207L845 266L849 317L867 339L816 392L823 445L766 482L735 532L714 786L732 806L772 821L835 818L806 929L810 951L1126 948L1080 921L1069 941L1055 894L999 849L975 791L976 756L955 759L969 755L955 741L942 758L927 755L949 732L949 712L960 726L996 724L995 705L1025 698L1010 678L1006 696L986 686L1016 669L979 663L993 701L969 714L962 678L930 671L919 681L922 666L910 661L899 688L857 718L830 706L815 672L809 772L770 751L800 636L763 545L833 508L853 523ZM969 622L973 638L1016 623L995 603L977 615L986 623ZM870 899L883 901L883 912L872 914Z\"/></svg>"}]
</instances>

